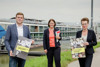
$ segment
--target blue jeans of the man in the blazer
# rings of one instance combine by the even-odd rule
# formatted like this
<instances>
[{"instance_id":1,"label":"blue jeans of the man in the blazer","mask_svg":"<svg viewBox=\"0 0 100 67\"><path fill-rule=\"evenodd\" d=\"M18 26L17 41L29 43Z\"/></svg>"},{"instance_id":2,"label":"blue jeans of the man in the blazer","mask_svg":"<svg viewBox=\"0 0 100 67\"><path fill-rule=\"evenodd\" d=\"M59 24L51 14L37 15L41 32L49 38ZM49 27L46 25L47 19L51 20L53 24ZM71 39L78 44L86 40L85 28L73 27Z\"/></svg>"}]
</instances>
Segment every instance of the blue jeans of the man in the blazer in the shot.
<instances>
[{"instance_id":1,"label":"blue jeans of the man in the blazer","mask_svg":"<svg viewBox=\"0 0 100 67\"><path fill-rule=\"evenodd\" d=\"M9 67L24 67L25 60L17 57L9 57Z\"/></svg>"}]
</instances>

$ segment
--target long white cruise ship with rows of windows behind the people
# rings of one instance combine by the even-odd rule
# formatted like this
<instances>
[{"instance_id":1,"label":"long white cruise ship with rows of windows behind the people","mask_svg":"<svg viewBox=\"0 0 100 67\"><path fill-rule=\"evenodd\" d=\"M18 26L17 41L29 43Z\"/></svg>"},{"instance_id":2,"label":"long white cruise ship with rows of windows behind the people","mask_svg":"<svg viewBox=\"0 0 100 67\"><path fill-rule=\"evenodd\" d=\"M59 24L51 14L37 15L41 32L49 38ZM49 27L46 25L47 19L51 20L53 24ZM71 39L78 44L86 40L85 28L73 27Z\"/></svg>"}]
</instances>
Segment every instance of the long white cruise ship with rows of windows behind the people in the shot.
<instances>
[{"instance_id":1,"label":"long white cruise ship with rows of windows behind the people","mask_svg":"<svg viewBox=\"0 0 100 67\"><path fill-rule=\"evenodd\" d=\"M0 25L7 30L8 25L14 24L16 22L15 17L9 20L1 20ZM48 28L48 21L37 20L37 19L27 19L25 18L24 25L27 25L30 30L32 39L42 40L43 32ZM69 39L69 37L75 36L78 30L81 30L80 26L66 25L64 22L56 22L56 27L61 31L61 36L63 40Z\"/></svg>"}]
</instances>

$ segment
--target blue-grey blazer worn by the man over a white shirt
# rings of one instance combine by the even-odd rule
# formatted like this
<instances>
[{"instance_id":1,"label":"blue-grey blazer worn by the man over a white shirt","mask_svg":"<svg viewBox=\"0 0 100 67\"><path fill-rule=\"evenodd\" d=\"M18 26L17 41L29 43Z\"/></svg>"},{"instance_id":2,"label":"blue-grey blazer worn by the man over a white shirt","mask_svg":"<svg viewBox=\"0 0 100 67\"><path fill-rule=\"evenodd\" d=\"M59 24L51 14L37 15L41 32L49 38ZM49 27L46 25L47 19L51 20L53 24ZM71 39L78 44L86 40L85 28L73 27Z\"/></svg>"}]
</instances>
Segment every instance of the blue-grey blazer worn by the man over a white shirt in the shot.
<instances>
[{"instance_id":1,"label":"blue-grey blazer worn by the man over a white shirt","mask_svg":"<svg viewBox=\"0 0 100 67\"><path fill-rule=\"evenodd\" d=\"M31 38L29 28L25 25L23 25L23 37L29 39ZM5 36L5 46L8 52L10 52L11 50L14 51L17 40L18 32L16 24L9 25Z\"/></svg>"}]
</instances>

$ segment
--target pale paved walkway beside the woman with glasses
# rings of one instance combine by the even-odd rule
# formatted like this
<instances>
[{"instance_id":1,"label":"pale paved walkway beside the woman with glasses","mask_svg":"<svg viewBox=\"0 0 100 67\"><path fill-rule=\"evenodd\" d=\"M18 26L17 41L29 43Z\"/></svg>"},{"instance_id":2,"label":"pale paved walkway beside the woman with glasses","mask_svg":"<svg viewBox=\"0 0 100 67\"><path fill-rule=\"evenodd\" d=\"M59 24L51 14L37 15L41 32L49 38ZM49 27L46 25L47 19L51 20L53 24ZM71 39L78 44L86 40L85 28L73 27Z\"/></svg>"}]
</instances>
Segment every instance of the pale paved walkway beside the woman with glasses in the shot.
<instances>
[{"instance_id":1,"label":"pale paved walkway beside the woman with glasses","mask_svg":"<svg viewBox=\"0 0 100 67\"><path fill-rule=\"evenodd\" d=\"M79 62L74 61L74 62L70 63L68 65L68 67L79 67ZM100 67L100 48L97 48L95 53L94 53L92 67Z\"/></svg>"}]
</instances>

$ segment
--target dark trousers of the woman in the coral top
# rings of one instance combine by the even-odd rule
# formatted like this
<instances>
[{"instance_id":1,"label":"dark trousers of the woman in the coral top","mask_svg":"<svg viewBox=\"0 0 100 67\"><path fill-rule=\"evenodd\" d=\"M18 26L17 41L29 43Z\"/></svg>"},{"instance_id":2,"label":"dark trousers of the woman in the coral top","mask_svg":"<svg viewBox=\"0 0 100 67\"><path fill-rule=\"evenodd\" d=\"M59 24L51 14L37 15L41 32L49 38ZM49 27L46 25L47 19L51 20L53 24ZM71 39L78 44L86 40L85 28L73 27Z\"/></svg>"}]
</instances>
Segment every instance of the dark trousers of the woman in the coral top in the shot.
<instances>
[{"instance_id":1,"label":"dark trousers of the woman in the coral top","mask_svg":"<svg viewBox=\"0 0 100 67\"><path fill-rule=\"evenodd\" d=\"M52 47L52 48L48 49L48 52L47 52L48 67L53 67L53 57L54 57L54 60L55 60L56 67L61 67L60 51L61 51L60 47L57 47L57 48Z\"/></svg>"}]
</instances>

